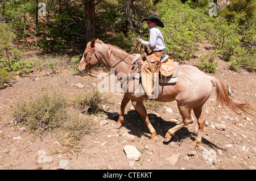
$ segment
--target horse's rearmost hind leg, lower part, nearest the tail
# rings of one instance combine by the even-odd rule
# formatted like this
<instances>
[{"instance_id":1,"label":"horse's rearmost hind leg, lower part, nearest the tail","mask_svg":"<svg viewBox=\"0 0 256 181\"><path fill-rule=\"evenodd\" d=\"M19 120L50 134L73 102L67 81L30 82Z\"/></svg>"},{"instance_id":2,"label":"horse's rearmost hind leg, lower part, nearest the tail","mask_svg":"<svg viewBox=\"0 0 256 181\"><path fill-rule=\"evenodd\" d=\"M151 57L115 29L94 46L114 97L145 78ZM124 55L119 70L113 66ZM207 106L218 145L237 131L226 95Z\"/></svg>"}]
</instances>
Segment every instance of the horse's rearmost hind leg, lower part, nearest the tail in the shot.
<instances>
[{"instance_id":1,"label":"horse's rearmost hind leg, lower part, nearest the tail","mask_svg":"<svg viewBox=\"0 0 256 181\"><path fill-rule=\"evenodd\" d=\"M197 123L198 123L198 132L196 136L196 140L193 141L191 144L196 147L196 144L199 144L202 142L202 136L203 136L203 129L204 129L204 124L205 124L205 117L204 113L202 112L202 107L203 106L198 106L193 108L193 111L195 113Z\"/></svg>"}]
</instances>

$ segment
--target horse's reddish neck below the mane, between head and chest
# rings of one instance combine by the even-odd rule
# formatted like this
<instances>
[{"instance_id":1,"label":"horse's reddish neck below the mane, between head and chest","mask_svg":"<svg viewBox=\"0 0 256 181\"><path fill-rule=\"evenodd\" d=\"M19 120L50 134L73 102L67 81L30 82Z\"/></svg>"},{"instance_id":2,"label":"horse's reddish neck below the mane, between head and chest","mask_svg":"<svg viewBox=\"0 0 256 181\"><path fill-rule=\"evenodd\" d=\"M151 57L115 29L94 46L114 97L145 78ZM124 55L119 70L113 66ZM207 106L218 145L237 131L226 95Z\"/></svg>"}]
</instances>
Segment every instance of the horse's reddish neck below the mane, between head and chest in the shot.
<instances>
[{"instance_id":1,"label":"horse's reddish neck below the mane, between head and chest","mask_svg":"<svg viewBox=\"0 0 256 181\"><path fill-rule=\"evenodd\" d=\"M102 60L101 61L104 62L104 64L108 68L112 68L115 65L114 66L115 74L117 74L117 73L128 74L129 71L130 71L130 68L131 68L131 61L132 61L132 60L130 60L131 59L131 55L126 57L126 55L128 54L126 52L123 52L125 54L125 56L123 56L123 57L119 57L117 54L114 54L114 53L111 53L110 55L108 55L106 53L106 51L108 51L108 48L109 48L108 46L110 46L110 45L102 44L102 47L99 48L99 50L98 50L98 52L100 52L100 54L102 56ZM119 62L124 57L126 57L125 60ZM130 64L128 62L130 62Z\"/></svg>"}]
</instances>

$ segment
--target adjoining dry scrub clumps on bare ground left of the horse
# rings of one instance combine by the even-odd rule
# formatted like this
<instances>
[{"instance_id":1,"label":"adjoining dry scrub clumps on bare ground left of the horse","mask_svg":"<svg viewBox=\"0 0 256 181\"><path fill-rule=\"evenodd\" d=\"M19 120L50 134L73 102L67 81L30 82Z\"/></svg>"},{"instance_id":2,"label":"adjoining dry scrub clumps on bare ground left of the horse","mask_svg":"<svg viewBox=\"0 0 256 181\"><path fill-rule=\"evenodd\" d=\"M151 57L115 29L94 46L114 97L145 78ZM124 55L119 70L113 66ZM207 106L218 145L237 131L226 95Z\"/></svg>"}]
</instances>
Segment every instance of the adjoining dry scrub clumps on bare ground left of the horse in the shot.
<instances>
[{"instance_id":1,"label":"adjoining dry scrub clumps on bare ground left of the horse","mask_svg":"<svg viewBox=\"0 0 256 181\"><path fill-rule=\"evenodd\" d=\"M20 100L11 110L14 119L24 124L36 137L54 129L61 137L61 144L77 149L81 147L81 138L96 131L97 127L93 116L81 114L79 110L68 112L67 102L59 91L42 92Z\"/></svg>"}]
</instances>

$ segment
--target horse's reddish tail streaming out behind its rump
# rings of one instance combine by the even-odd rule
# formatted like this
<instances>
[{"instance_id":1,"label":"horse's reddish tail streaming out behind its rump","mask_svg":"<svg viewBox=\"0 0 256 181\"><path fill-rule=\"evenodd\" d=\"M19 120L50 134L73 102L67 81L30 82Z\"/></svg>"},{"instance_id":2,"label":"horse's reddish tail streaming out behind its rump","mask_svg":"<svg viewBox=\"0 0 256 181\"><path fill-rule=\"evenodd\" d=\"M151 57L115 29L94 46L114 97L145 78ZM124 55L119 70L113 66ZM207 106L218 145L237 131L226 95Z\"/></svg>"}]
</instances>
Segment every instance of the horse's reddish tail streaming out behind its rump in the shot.
<instances>
[{"instance_id":1,"label":"horse's reddish tail streaming out behind its rump","mask_svg":"<svg viewBox=\"0 0 256 181\"><path fill-rule=\"evenodd\" d=\"M220 81L220 79L216 77L210 77L210 78L214 84L214 87L216 88L216 92L217 92L216 99L217 99L218 105L222 107L226 106L230 108L230 110L236 112L238 115L241 115L241 111L250 113L250 112L247 112L247 110L252 110L251 104L246 104L246 103L240 104L240 103L234 102L232 99L229 98L228 92L226 91L225 86Z\"/></svg>"}]
</instances>

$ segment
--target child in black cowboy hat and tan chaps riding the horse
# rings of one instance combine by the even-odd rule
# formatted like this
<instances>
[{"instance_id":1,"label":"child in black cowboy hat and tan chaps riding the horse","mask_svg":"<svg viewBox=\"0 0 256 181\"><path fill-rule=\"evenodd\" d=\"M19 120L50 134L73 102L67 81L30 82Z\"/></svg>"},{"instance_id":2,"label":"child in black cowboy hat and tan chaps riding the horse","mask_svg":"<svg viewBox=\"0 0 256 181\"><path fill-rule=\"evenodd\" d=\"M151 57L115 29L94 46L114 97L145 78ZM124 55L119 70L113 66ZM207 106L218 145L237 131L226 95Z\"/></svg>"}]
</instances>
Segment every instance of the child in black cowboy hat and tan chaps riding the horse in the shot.
<instances>
[{"instance_id":1,"label":"child in black cowboy hat and tan chaps riding the horse","mask_svg":"<svg viewBox=\"0 0 256 181\"><path fill-rule=\"evenodd\" d=\"M147 22L147 27L150 32L150 37L149 37L149 41L144 41L142 39L139 39L138 41L142 45L150 48L150 50L152 51L147 56L148 61L144 61L144 63L142 64L142 68L141 68L142 87L146 91L146 95L151 95L153 92L152 87L154 87L155 70L157 70L160 60L162 60L162 58L166 56L166 52L165 52L166 45L164 44L163 35L160 32L160 30L156 27L156 26L159 26L163 28L164 24L156 14L151 14L147 18L141 19L141 21Z\"/></svg>"}]
</instances>

